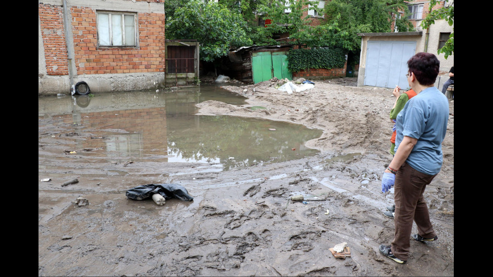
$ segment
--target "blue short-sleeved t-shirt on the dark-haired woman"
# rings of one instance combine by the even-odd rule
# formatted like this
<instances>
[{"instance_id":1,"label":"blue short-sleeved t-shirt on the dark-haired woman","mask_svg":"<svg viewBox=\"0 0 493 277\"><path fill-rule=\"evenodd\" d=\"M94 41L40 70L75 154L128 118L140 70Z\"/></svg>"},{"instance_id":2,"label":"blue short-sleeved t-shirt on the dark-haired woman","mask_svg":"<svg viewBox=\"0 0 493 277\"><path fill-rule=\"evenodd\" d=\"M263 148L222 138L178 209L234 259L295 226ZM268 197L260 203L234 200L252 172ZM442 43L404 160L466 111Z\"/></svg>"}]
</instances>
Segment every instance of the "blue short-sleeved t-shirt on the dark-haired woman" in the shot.
<instances>
[{"instance_id":1,"label":"blue short-sleeved t-shirt on the dark-haired woman","mask_svg":"<svg viewBox=\"0 0 493 277\"><path fill-rule=\"evenodd\" d=\"M443 163L442 142L448 117L447 97L434 86L422 90L397 115L395 152L404 136L418 139L406 163L425 174L437 174Z\"/></svg>"}]
</instances>

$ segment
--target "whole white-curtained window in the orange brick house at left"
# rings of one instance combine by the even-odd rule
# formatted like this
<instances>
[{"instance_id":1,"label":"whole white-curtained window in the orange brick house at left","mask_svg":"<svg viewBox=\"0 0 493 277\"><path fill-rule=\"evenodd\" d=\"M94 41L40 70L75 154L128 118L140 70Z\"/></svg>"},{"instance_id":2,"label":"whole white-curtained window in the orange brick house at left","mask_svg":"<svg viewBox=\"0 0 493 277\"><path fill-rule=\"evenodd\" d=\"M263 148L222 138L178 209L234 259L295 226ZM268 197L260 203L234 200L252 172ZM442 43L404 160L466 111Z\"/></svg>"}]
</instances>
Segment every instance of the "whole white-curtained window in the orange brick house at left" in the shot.
<instances>
[{"instance_id":1,"label":"whole white-curtained window in the orange brick house at left","mask_svg":"<svg viewBox=\"0 0 493 277\"><path fill-rule=\"evenodd\" d=\"M137 14L98 12L100 46L137 46Z\"/></svg>"}]
</instances>

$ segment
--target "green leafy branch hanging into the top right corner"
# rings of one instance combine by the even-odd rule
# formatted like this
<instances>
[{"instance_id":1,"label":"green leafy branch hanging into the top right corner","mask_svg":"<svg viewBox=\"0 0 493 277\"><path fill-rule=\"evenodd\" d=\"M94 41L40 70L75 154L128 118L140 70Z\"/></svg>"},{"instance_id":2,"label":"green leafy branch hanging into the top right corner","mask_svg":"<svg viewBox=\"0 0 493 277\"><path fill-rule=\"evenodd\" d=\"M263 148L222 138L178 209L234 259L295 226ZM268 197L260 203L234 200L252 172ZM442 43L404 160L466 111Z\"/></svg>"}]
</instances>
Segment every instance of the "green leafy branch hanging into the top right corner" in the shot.
<instances>
[{"instance_id":1,"label":"green leafy branch hanging into the top right corner","mask_svg":"<svg viewBox=\"0 0 493 277\"><path fill-rule=\"evenodd\" d=\"M431 0L430 1L430 9L435 7L440 1L437 0ZM449 26L452 26L454 24L454 1L452 0L451 3L449 3L448 7L441 7L439 9L431 11L426 18L421 22L421 27L423 29L429 28L431 25L435 24L435 20L443 19L448 22ZM452 29L453 30L453 29ZM445 59L448 58L448 56L454 54L454 32L450 34L449 39L445 42L445 45L438 49L437 51L438 54L443 53L445 56Z\"/></svg>"}]
</instances>

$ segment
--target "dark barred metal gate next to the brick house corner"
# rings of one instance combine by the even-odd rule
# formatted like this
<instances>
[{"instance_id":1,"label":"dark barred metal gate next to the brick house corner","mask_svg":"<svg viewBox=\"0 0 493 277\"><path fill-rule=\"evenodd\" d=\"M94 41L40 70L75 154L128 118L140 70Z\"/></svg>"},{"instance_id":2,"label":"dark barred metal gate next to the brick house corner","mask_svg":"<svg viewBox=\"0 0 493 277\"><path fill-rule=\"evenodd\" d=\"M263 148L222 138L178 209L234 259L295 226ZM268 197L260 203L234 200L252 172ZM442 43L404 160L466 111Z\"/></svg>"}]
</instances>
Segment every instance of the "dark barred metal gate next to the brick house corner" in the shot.
<instances>
[{"instance_id":1,"label":"dark barred metal gate next to the brick house corner","mask_svg":"<svg viewBox=\"0 0 493 277\"><path fill-rule=\"evenodd\" d=\"M165 87L197 85L199 43L196 40L167 40Z\"/></svg>"}]
</instances>

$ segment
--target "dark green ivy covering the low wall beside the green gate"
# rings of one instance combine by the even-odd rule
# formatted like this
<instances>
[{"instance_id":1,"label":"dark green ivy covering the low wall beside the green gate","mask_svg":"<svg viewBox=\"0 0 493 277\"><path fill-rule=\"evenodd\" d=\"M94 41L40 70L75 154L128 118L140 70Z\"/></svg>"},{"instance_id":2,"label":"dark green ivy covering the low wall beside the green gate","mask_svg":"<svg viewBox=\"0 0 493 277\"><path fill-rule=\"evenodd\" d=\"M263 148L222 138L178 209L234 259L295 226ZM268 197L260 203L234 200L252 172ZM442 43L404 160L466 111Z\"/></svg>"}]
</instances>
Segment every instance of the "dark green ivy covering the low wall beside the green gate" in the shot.
<instances>
[{"instance_id":1,"label":"dark green ivy covering the low wall beside the green gate","mask_svg":"<svg viewBox=\"0 0 493 277\"><path fill-rule=\"evenodd\" d=\"M310 68L342 68L346 63L347 50L335 49L292 49L288 54L288 70L299 72Z\"/></svg>"}]
</instances>

